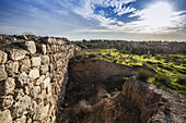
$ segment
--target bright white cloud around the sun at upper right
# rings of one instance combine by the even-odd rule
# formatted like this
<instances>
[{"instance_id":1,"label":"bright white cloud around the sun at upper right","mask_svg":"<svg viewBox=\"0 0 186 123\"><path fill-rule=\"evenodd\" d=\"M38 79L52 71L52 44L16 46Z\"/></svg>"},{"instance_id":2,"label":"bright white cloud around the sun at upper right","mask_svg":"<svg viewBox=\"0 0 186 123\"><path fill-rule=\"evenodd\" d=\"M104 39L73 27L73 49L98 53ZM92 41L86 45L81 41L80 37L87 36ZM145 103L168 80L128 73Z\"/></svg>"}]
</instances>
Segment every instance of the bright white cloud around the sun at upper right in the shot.
<instances>
[{"instance_id":1,"label":"bright white cloud around the sun at upper right","mask_svg":"<svg viewBox=\"0 0 186 123\"><path fill-rule=\"evenodd\" d=\"M154 2L147 9L137 10L132 7L127 7L127 3L136 0L80 0L81 4L73 9L73 12L89 20L97 20L100 26L106 27L109 30L124 33L167 33L175 32L177 28L183 28L186 25L186 11L174 12L173 8L167 2ZM138 16L137 21L124 23L117 21L116 17L106 17L104 11L94 13L96 5L114 8L113 12L120 16L126 13L131 13L128 17ZM175 28L175 29L170 29ZM97 30L96 30L97 32ZM103 32L103 29L101 30Z\"/></svg>"}]
</instances>

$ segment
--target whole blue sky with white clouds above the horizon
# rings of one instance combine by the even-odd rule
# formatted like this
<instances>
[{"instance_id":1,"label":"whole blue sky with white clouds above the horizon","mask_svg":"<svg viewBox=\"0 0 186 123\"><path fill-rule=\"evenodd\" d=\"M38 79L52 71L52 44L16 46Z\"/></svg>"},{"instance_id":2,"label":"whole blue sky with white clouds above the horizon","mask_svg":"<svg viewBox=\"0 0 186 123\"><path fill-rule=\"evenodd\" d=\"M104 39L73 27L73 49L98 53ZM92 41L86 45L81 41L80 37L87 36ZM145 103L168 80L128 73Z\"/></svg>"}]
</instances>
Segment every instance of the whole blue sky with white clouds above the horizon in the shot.
<instances>
[{"instance_id":1,"label":"whole blue sky with white clouds above the horizon","mask_svg":"<svg viewBox=\"0 0 186 123\"><path fill-rule=\"evenodd\" d=\"M186 41L186 0L0 0L0 34Z\"/></svg>"}]
</instances>

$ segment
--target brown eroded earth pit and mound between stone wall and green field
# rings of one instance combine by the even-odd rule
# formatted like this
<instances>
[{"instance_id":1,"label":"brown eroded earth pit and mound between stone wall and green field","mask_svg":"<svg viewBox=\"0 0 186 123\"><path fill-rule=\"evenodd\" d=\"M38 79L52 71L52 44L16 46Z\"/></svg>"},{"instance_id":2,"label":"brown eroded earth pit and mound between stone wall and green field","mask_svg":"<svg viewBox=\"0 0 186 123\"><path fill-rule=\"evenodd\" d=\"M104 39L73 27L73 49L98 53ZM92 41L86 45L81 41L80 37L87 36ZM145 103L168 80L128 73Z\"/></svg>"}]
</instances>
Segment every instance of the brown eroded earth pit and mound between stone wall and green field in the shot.
<instances>
[{"instance_id":1,"label":"brown eroded earth pit and mound between stone wall and green field","mask_svg":"<svg viewBox=\"0 0 186 123\"><path fill-rule=\"evenodd\" d=\"M58 122L184 123L183 99L129 77L135 71L102 60L71 60Z\"/></svg>"}]
</instances>

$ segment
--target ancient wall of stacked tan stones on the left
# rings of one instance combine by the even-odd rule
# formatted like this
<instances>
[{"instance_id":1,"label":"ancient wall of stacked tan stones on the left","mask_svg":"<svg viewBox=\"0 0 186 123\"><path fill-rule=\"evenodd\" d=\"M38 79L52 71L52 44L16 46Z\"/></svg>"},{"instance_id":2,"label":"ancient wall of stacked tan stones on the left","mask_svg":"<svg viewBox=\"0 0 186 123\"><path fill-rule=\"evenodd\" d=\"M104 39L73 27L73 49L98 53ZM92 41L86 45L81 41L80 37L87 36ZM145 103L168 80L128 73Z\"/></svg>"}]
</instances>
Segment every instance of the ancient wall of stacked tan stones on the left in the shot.
<instances>
[{"instance_id":1,"label":"ancient wall of stacked tan stones on the left","mask_svg":"<svg viewBox=\"0 0 186 123\"><path fill-rule=\"evenodd\" d=\"M77 49L65 38L50 37L3 46L0 123L54 123L58 97L65 93L68 62Z\"/></svg>"}]
</instances>

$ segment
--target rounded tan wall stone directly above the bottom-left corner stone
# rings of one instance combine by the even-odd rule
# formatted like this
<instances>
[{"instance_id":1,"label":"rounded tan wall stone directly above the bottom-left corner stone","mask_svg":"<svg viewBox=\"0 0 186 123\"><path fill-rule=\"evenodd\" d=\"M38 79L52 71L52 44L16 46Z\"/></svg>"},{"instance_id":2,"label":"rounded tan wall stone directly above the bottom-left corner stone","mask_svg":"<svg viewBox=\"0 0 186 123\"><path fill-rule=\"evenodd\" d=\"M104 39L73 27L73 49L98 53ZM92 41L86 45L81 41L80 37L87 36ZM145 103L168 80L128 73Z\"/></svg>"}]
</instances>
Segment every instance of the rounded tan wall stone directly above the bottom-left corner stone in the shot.
<instances>
[{"instance_id":1,"label":"rounded tan wall stone directly above the bottom-left corner stone","mask_svg":"<svg viewBox=\"0 0 186 123\"><path fill-rule=\"evenodd\" d=\"M12 106L13 103L13 97L12 96L4 96L2 100L2 108L8 109Z\"/></svg>"}]
</instances>

